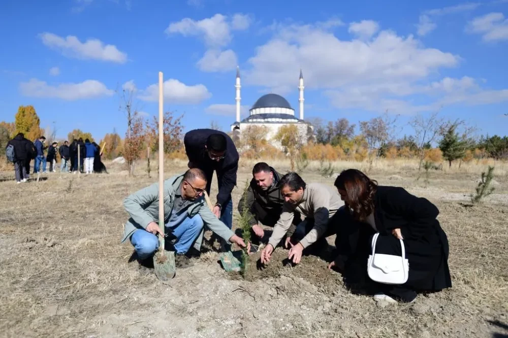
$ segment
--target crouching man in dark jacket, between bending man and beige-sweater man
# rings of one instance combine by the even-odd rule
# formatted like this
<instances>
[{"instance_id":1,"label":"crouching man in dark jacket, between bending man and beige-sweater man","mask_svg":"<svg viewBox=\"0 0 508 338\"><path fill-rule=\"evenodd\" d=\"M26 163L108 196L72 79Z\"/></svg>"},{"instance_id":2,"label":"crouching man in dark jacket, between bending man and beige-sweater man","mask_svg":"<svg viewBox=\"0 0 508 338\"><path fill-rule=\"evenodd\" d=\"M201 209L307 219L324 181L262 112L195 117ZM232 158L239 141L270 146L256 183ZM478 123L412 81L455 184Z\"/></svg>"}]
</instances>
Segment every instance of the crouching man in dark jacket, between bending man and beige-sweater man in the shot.
<instances>
[{"instance_id":1,"label":"crouching man in dark jacket, between bending man and beige-sweater man","mask_svg":"<svg viewBox=\"0 0 508 338\"><path fill-rule=\"evenodd\" d=\"M240 215L249 219L252 232L259 239L263 239L265 236L262 225L273 227L282 212L284 197L279 190L281 177L282 175L267 163L256 163L252 168L252 180L250 180L247 192L238 202ZM300 214L297 213L293 224L299 222ZM294 231L294 229L292 230ZM293 231L290 230L290 236Z\"/></svg>"}]
</instances>

